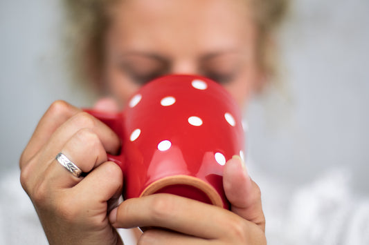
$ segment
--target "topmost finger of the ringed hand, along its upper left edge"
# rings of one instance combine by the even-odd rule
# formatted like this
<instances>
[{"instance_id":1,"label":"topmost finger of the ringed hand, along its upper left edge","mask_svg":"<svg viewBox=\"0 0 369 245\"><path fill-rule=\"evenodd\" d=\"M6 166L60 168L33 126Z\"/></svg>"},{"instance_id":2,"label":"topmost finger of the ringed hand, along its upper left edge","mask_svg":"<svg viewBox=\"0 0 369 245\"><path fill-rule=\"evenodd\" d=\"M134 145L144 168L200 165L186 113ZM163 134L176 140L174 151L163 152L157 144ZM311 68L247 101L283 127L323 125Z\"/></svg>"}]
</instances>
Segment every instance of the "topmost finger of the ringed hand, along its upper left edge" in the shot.
<instances>
[{"instance_id":1,"label":"topmost finger of the ringed hand, along its upper left edge","mask_svg":"<svg viewBox=\"0 0 369 245\"><path fill-rule=\"evenodd\" d=\"M35 132L21 155L19 160L20 168L22 168L24 164L46 144L48 139L60 125L64 124L65 121L80 111L80 109L71 106L65 101L55 101L51 104L44 116L40 119Z\"/></svg>"}]
</instances>

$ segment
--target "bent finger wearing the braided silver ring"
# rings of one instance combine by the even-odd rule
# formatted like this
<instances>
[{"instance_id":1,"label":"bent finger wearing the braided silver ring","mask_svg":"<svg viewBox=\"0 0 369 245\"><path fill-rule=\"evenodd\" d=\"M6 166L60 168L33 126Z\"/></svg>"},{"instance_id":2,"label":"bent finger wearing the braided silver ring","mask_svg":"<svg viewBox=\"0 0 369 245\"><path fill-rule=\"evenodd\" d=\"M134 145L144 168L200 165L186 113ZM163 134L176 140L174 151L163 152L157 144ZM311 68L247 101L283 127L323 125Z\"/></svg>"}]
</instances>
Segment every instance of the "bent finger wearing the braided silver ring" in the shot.
<instances>
[{"instance_id":1,"label":"bent finger wearing the braided silver ring","mask_svg":"<svg viewBox=\"0 0 369 245\"><path fill-rule=\"evenodd\" d=\"M75 133L63 146L61 152L83 173L89 173L93 168L107 161L107 153L100 139L88 128L82 128ZM82 179L72 175L56 159L48 166L46 176L53 179L53 184L58 188L70 188Z\"/></svg>"}]
</instances>

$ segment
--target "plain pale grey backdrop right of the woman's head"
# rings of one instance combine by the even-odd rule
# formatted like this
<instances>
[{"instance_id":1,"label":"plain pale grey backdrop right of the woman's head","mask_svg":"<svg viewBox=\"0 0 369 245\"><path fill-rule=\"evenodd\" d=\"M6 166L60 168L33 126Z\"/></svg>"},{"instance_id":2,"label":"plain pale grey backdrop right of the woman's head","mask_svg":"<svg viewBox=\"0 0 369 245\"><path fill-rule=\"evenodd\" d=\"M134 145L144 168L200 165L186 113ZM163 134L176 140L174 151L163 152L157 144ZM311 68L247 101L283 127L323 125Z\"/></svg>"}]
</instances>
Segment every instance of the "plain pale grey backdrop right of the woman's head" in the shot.
<instances>
[{"instance_id":1,"label":"plain pale grey backdrop right of the woman's head","mask_svg":"<svg viewBox=\"0 0 369 245\"><path fill-rule=\"evenodd\" d=\"M281 40L289 92L251 107L253 159L295 183L342 167L368 195L369 1L294 1Z\"/></svg>"}]
</instances>

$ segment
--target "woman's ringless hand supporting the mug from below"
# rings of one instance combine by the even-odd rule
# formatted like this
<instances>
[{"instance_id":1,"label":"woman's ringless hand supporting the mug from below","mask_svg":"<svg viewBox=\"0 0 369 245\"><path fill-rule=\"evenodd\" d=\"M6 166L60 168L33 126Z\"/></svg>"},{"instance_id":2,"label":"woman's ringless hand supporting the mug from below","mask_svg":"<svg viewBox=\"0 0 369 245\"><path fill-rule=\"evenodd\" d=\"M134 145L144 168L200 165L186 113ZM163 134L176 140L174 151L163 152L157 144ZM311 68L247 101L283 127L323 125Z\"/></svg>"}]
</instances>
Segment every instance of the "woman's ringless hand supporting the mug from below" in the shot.
<instances>
[{"instance_id":1,"label":"woman's ringless hand supporting the mug from below","mask_svg":"<svg viewBox=\"0 0 369 245\"><path fill-rule=\"evenodd\" d=\"M224 168L231 211L169 194L127 199L111 211L114 227L152 226L138 244L267 244L260 189L240 158Z\"/></svg>"}]
</instances>

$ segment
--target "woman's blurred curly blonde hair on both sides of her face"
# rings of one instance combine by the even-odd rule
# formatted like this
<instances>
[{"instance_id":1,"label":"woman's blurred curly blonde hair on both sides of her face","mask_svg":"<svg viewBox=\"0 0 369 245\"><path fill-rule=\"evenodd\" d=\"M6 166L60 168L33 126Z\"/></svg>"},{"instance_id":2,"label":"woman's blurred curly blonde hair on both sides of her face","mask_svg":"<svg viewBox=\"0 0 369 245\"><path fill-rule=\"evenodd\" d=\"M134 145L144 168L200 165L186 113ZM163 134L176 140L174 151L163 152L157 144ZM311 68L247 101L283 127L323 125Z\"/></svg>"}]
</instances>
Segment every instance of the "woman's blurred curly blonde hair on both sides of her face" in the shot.
<instances>
[{"instance_id":1,"label":"woman's blurred curly blonde hair on both sides of her face","mask_svg":"<svg viewBox=\"0 0 369 245\"><path fill-rule=\"evenodd\" d=\"M122 0L64 0L69 63L75 79L95 80L101 90L103 37L109 26L109 8ZM244 0L251 3L258 30L258 66L267 77L276 75L276 49L271 45L275 30L285 17L289 0ZM91 86L91 84L89 84Z\"/></svg>"}]
</instances>

